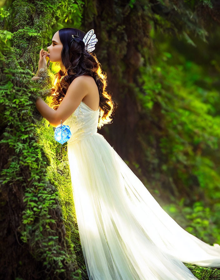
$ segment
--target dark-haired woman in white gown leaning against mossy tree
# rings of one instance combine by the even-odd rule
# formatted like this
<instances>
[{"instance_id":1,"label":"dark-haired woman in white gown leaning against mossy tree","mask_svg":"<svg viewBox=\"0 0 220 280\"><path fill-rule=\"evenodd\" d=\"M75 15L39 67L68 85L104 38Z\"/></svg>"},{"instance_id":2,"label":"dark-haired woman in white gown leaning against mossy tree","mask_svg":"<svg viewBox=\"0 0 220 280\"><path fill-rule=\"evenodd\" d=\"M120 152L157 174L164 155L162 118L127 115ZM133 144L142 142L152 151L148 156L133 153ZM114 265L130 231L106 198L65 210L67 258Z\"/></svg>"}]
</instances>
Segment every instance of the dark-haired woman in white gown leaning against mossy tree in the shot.
<instances>
[{"instance_id":1,"label":"dark-haired woman in white gown leaning against mossy tree","mask_svg":"<svg viewBox=\"0 0 220 280\"><path fill-rule=\"evenodd\" d=\"M107 77L91 53L97 42L94 30L88 33L60 29L47 47L49 53L41 50L39 68L47 69L49 56L61 70L49 90L53 108L42 98L36 101L38 111L53 127L62 120L72 133L68 160L88 277L197 279L183 262L220 267L220 246L202 242L180 227L97 133L97 127L111 122L116 104L105 90Z\"/></svg>"}]
</instances>

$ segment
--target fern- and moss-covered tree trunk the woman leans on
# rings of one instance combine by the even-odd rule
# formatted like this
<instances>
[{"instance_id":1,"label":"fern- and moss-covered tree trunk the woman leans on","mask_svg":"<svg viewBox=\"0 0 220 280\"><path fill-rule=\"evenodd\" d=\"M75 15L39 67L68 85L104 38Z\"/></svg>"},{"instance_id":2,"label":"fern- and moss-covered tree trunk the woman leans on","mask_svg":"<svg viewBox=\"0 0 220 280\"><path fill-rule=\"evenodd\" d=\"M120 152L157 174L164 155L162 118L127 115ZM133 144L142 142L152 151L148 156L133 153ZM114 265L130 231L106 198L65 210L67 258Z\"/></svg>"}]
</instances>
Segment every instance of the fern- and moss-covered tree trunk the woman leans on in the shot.
<instances>
[{"instance_id":1,"label":"fern- and moss-covered tree trunk the woman leans on","mask_svg":"<svg viewBox=\"0 0 220 280\"><path fill-rule=\"evenodd\" d=\"M80 2L13 1L8 12L2 11L1 279L88 279L74 210L66 210L73 205L69 174L64 166L58 170L60 147L32 98L43 87L31 81L40 49L46 49L59 20L65 22L66 13L73 17L74 11L80 15ZM66 155L61 152L59 162ZM61 186L67 188L65 201Z\"/></svg>"}]
</instances>

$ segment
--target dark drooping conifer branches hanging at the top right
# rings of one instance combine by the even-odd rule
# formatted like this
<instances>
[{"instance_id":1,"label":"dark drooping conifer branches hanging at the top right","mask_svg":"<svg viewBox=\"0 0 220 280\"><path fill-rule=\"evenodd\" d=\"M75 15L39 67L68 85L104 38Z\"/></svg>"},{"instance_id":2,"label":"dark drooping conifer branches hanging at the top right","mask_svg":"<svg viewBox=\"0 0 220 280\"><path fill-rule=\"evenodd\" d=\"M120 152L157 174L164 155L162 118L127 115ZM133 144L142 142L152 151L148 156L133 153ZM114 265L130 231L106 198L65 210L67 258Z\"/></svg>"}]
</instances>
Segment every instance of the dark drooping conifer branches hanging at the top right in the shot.
<instances>
[{"instance_id":1,"label":"dark drooping conifer branches hanging at the top right","mask_svg":"<svg viewBox=\"0 0 220 280\"><path fill-rule=\"evenodd\" d=\"M192 34L199 36L203 41L207 42L207 31L201 24L195 8L199 10L199 4L207 5L212 8L210 0L204 1L175 1L175 0L159 0L147 2L145 1L144 9L154 27L161 34L169 33L177 36L179 39L194 45L190 38ZM152 12L153 10L153 12Z\"/></svg>"}]
</instances>

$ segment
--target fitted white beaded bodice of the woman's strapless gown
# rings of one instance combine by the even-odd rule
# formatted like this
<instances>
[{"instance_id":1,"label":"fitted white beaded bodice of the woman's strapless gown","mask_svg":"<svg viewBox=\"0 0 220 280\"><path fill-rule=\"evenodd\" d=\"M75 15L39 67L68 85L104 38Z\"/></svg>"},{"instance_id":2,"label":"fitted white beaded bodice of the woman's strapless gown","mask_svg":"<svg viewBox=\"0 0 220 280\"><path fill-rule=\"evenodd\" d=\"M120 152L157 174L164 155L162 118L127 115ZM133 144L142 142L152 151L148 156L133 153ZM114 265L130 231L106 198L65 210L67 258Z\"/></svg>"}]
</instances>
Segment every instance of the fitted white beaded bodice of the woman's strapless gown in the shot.
<instances>
[{"instance_id":1,"label":"fitted white beaded bodice of the woman's strapless gown","mask_svg":"<svg viewBox=\"0 0 220 280\"><path fill-rule=\"evenodd\" d=\"M99 113L99 108L97 111L94 111L81 101L73 114L63 122L64 125L70 127L70 132L72 134L67 143L74 143L96 134Z\"/></svg>"}]
</instances>

